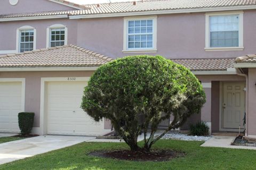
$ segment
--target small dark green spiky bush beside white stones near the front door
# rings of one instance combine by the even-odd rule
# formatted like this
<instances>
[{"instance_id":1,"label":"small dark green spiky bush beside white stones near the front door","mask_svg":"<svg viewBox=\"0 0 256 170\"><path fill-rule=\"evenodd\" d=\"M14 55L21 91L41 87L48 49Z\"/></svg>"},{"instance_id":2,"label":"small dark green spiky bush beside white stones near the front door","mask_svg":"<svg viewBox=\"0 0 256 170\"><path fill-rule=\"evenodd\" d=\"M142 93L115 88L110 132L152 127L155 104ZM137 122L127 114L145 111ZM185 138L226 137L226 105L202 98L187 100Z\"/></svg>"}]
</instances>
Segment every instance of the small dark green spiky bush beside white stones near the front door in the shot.
<instances>
[{"instance_id":1,"label":"small dark green spiky bush beside white stones near the front door","mask_svg":"<svg viewBox=\"0 0 256 170\"><path fill-rule=\"evenodd\" d=\"M205 122L198 122L190 125L189 135L207 136L209 135L209 127Z\"/></svg>"}]
</instances>

